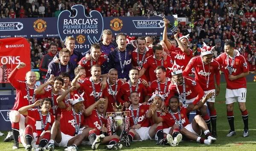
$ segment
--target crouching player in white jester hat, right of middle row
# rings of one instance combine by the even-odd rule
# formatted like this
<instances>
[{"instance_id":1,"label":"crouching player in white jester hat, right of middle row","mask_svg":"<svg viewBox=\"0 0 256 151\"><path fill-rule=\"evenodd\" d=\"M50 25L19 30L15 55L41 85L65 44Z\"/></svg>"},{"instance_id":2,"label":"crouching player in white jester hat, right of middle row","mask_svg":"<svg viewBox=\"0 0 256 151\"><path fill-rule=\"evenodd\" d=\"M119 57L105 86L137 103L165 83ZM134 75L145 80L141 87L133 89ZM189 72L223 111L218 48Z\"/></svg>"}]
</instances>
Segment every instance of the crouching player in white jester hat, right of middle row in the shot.
<instances>
[{"instance_id":1,"label":"crouching player in white jester hat, right of middle row","mask_svg":"<svg viewBox=\"0 0 256 151\"><path fill-rule=\"evenodd\" d=\"M172 83L169 85L169 95L175 96L175 94L178 94L180 102L187 106L187 113L189 113L204 96L204 90L193 78L183 76L179 65L174 64L171 73ZM168 103L168 100L166 100L165 105L168 106ZM206 109L206 106L200 108L201 112L204 113L207 113Z\"/></svg>"}]
</instances>

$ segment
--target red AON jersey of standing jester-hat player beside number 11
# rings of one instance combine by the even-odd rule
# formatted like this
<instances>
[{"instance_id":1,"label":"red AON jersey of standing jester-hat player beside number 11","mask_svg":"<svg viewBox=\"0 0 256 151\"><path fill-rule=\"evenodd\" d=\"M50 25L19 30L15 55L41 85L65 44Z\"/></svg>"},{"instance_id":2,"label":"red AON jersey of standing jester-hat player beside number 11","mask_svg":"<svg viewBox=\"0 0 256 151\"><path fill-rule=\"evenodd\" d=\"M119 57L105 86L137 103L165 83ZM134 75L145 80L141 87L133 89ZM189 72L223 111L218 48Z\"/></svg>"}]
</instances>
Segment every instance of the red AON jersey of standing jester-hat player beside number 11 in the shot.
<instances>
[{"instance_id":1,"label":"red AON jersey of standing jester-hat player beside number 11","mask_svg":"<svg viewBox=\"0 0 256 151\"><path fill-rule=\"evenodd\" d=\"M192 58L186 66L186 69L183 71L183 76L189 76L192 68L195 69L195 81L204 91L215 89L214 75L216 83L220 84L220 64L214 59L212 59L210 64L203 64L201 56ZM208 77L209 83L207 88Z\"/></svg>"}]
</instances>

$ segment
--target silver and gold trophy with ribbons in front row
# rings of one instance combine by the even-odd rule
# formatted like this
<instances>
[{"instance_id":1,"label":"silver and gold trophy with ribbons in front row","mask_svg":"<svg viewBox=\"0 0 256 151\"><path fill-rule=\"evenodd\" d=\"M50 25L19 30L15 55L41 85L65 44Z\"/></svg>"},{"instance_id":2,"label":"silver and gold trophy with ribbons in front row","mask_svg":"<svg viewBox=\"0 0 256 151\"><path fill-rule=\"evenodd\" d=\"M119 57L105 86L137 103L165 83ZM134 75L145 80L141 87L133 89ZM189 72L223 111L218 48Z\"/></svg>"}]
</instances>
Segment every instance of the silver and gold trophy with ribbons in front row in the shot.
<instances>
[{"instance_id":1,"label":"silver and gold trophy with ribbons in front row","mask_svg":"<svg viewBox=\"0 0 256 151\"><path fill-rule=\"evenodd\" d=\"M121 132L120 137L122 137L122 132L126 131L128 134L130 128L130 112L123 111L124 105L113 105L114 112L107 112L107 129L108 135L117 135L117 131Z\"/></svg>"}]
</instances>

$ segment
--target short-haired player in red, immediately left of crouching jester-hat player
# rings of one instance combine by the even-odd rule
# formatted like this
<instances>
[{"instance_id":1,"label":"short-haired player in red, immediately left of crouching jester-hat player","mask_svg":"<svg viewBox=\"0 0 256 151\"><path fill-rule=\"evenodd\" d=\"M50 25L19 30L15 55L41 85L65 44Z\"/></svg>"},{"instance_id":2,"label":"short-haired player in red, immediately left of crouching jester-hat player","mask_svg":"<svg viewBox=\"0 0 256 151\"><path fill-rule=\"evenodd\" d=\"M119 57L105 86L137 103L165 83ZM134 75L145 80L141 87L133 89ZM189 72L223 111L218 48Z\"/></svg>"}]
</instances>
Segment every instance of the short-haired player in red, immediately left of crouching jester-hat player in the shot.
<instances>
[{"instance_id":1,"label":"short-haired player in red, immediately left of crouching jester-hat player","mask_svg":"<svg viewBox=\"0 0 256 151\"><path fill-rule=\"evenodd\" d=\"M166 68L163 66L158 66L156 69L156 76L157 80L150 84L151 93L157 90L163 96L163 101L168 100L168 88L171 84L171 78L166 77Z\"/></svg>"}]
</instances>

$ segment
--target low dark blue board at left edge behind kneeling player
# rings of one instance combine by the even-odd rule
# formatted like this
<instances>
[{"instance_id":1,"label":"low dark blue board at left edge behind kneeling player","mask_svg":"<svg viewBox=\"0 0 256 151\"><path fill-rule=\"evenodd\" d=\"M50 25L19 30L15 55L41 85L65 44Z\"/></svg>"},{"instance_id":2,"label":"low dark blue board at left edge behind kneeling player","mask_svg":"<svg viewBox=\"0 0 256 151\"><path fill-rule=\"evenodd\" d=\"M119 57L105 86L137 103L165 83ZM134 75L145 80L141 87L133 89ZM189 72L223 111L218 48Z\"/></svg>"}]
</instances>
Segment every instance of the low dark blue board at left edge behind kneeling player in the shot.
<instances>
[{"instance_id":1,"label":"low dark blue board at left edge behind kneeling player","mask_svg":"<svg viewBox=\"0 0 256 151\"><path fill-rule=\"evenodd\" d=\"M0 131L8 131L12 129L9 119L9 113L15 102L16 95L0 96Z\"/></svg>"}]
</instances>

